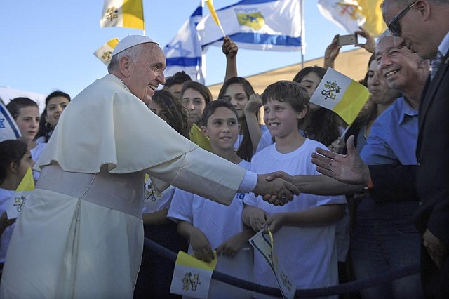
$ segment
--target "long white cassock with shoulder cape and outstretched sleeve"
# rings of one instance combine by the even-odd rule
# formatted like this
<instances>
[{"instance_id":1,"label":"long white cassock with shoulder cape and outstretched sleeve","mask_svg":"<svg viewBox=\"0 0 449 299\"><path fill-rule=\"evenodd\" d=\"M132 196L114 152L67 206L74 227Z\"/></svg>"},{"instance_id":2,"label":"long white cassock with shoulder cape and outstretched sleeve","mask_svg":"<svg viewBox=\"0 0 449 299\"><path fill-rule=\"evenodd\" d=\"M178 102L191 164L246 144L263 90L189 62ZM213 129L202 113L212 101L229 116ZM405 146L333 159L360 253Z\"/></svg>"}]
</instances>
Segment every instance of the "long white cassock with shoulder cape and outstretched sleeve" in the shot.
<instances>
[{"instance_id":1,"label":"long white cassock with shoulder cape and outstretched sleeve","mask_svg":"<svg viewBox=\"0 0 449 299\"><path fill-rule=\"evenodd\" d=\"M112 74L67 106L36 166L1 298L132 298L145 173L161 190L175 185L223 204L245 176L176 133Z\"/></svg>"}]
</instances>

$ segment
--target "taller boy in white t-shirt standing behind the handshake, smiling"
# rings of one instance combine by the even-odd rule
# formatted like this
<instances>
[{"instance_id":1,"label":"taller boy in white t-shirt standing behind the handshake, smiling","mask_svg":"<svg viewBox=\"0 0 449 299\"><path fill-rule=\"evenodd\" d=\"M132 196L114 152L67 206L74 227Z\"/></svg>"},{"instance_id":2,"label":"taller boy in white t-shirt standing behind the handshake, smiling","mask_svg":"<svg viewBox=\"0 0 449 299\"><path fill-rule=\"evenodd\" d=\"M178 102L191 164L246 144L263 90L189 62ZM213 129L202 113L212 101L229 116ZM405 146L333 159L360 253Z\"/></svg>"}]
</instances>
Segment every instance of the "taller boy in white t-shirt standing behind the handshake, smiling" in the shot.
<instances>
[{"instance_id":1,"label":"taller boy in white t-shirt standing behind the handshake, smiling","mask_svg":"<svg viewBox=\"0 0 449 299\"><path fill-rule=\"evenodd\" d=\"M262 95L264 122L276 142L255 154L251 171L319 174L311 164L311 153L316 147L326 147L298 132L307 114L308 102L307 91L296 82L279 81L265 89ZM266 228L271 230L279 263L297 288L338 284L335 222L343 216L344 197L300 194L285 206L269 206L260 197L246 194L243 202L243 222L256 232ZM278 287L267 261L257 251L254 253L253 280L264 286ZM258 293L253 295L265 297Z\"/></svg>"}]
</instances>

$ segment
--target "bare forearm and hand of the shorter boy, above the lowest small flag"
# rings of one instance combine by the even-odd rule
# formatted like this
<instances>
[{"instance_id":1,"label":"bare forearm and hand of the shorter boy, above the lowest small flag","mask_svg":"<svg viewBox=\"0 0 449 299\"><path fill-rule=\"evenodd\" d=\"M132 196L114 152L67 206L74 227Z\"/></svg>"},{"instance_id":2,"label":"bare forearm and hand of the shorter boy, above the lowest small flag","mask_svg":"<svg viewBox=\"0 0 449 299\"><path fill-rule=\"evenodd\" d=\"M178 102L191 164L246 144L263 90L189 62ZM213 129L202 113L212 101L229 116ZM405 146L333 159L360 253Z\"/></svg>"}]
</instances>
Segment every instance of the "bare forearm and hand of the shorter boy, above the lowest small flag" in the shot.
<instances>
[{"instance_id":1,"label":"bare forearm and hand of the shorter boy, above the lowest small flag","mask_svg":"<svg viewBox=\"0 0 449 299\"><path fill-rule=\"evenodd\" d=\"M205 262L210 262L215 258L208 238L198 227L194 227L187 221L180 221L177 224L177 232L190 241L196 258Z\"/></svg>"}]
</instances>

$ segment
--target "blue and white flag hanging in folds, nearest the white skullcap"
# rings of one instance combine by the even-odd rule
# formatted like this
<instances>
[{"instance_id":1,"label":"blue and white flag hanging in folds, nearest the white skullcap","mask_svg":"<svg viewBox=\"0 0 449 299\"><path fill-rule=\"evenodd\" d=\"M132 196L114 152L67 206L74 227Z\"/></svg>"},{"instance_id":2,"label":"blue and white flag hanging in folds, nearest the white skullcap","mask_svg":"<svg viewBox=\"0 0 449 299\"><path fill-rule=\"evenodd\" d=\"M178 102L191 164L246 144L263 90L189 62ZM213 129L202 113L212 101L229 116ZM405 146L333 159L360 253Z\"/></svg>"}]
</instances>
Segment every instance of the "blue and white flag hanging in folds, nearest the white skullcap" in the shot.
<instances>
[{"instance_id":1,"label":"blue and white flag hanging in folds, nearest the white skullcap","mask_svg":"<svg viewBox=\"0 0 449 299\"><path fill-rule=\"evenodd\" d=\"M176 36L163 48L167 62L164 72L166 77L184 71L192 80L204 84L206 67L203 65L203 52L196 32L196 25L201 18L203 18L203 1L189 20L182 25Z\"/></svg>"}]
</instances>

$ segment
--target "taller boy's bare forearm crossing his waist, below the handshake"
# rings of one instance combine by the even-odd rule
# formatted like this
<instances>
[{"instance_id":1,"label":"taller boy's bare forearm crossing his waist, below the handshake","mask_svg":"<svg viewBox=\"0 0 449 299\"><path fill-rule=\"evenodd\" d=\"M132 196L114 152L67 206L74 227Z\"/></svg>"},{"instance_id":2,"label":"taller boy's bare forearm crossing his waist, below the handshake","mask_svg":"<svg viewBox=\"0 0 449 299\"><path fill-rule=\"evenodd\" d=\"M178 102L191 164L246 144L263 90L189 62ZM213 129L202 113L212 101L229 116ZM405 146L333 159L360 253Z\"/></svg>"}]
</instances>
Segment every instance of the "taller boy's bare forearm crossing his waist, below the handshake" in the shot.
<instances>
[{"instance_id":1,"label":"taller boy's bare forearm crossing his waist, below the handshake","mask_svg":"<svg viewBox=\"0 0 449 299\"><path fill-rule=\"evenodd\" d=\"M278 231L283 226L318 227L330 225L343 218L345 206L344 204L328 204L306 211L276 213L268 218L265 225L272 232Z\"/></svg>"}]
</instances>

